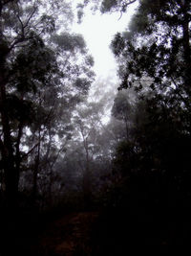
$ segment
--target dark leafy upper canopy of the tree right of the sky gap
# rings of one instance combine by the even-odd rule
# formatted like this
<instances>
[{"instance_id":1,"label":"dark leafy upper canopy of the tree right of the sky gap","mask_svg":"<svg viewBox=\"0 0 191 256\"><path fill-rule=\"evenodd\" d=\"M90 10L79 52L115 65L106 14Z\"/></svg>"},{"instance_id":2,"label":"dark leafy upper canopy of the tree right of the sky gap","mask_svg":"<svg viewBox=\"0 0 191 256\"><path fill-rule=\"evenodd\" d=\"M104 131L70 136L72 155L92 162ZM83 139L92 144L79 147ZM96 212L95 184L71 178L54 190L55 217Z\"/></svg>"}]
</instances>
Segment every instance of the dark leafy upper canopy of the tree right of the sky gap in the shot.
<instances>
[{"instance_id":1,"label":"dark leafy upper canopy of the tree right of the sky gap","mask_svg":"<svg viewBox=\"0 0 191 256\"><path fill-rule=\"evenodd\" d=\"M189 107L189 9L189 1L141 1L130 31L117 34L112 43L121 63L121 88L137 81L141 89L142 81L148 80L163 99Z\"/></svg>"}]
</instances>

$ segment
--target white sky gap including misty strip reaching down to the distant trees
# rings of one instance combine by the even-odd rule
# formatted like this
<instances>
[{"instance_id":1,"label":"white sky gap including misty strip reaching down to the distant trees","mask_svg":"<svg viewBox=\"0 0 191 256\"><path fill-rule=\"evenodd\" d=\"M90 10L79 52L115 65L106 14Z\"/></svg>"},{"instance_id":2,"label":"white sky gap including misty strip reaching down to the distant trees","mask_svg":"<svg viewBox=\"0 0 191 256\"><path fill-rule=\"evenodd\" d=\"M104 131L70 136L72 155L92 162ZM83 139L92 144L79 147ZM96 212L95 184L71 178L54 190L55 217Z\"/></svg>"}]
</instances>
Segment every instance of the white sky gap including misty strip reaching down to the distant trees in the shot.
<instances>
[{"instance_id":1,"label":"white sky gap including misty strip reaching down to the distant trees","mask_svg":"<svg viewBox=\"0 0 191 256\"><path fill-rule=\"evenodd\" d=\"M127 29L137 6L137 3L131 5L121 17L118 12L93 14L92 11L86 10L82 23L74 24L74 32L83 35L89 52L95 60L96 81L89 91L90 101L100 100L103 97L108 102L102 120L104 124L110 120L111 107L119 85L117 61L110 49L110 44L117 32L124 32ZM102 86L101 95L100 86Z\"/></svg>"}]
</instances>

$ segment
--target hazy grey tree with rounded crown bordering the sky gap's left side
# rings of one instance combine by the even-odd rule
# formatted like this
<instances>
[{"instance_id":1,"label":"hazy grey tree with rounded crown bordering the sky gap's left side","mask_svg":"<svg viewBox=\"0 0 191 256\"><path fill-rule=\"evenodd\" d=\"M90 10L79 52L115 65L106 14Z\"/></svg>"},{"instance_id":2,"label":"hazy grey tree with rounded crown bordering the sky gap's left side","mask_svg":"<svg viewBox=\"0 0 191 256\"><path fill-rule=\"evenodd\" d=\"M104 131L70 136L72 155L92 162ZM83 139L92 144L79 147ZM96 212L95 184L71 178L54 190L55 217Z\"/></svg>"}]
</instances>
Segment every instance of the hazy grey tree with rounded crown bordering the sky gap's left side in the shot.
<instances>
[{"instance_id":1,"label":"hazy grey tree with rounded crown bordering the sky gap's left side","mask_svg":"<svg viewBox=\"0 0 191 256\"><path fill-rule=\"evenodd\" d=\"M47 113L43 114L43 119L40 111L38 112L38 121L33 124L32 134L28 136L32 143L36 141L37 144L33 151L34 196L37 189L37 174L40 171L41 180L48 182L51 188L53 166L72 137L72 112L75 105L83 101L94 77L91 71L93 59L87 54L85 42L80 35L54 35L52 41L53 49L56 47L54 51L59 53L58 64L61 68L62 81L58 84L57 90L50 87L50 90L46 88L46 91L42 92L39 101L42 107L46 107ZM48 185L46 182L44 186Z\"/></svg>"}]
</instances>

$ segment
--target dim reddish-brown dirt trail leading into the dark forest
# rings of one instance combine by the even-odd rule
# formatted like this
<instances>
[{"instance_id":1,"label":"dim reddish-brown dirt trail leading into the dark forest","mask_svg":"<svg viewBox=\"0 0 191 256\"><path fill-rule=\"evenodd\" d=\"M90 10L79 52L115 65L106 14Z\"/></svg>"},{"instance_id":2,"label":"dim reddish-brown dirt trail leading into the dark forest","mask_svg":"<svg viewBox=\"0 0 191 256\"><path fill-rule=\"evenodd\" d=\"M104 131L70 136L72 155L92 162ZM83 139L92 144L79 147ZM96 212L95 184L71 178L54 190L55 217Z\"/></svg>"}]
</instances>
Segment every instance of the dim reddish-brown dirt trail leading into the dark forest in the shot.
<instances>
[{"instance_id":1,"label":"dim reddish-brown dirt trail leading into the dark forest","mask_svg":"<svg viewBox=\"0 0 191 256\"><path fill-rule=\"evenodd\" d=\"M90 236L97 217L96 212L81 212L48 224L38 238L39 255L91 255Z\"/></svg>"}]
</instances>

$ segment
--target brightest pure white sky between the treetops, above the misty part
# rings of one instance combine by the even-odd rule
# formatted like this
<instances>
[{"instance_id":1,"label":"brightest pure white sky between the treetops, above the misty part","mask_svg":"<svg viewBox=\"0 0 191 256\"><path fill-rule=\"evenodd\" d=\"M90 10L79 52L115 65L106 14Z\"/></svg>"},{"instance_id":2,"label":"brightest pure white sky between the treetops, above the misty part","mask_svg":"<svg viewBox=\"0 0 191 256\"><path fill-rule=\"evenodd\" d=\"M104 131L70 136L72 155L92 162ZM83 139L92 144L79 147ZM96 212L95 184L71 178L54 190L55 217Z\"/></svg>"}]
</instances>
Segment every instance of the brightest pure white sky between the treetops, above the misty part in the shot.
<instances>
[{"instance_id":1,"label":"brightest pure white sky between the treetops, above the misty part","mask_svg":"<svg viewBox=\"0 0 191 256\"><path fill-rule=\"evenodd\" d=\"M108 76L114 76L117 80L117 63L109 46L114 35L127 28L136 6L134 4L129 7L121 18L119 13L92 14L91 11L86 11L83 22L74 25L74 31L84 36L87 47L95 59L94 70L97 78L106 79Z\"/></svg>"}]
</instances>

